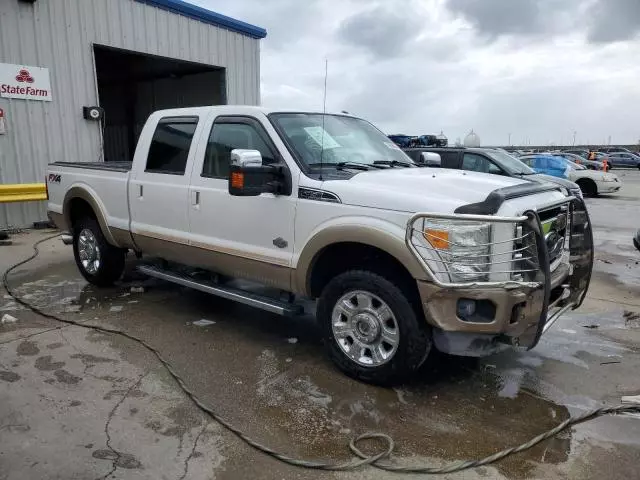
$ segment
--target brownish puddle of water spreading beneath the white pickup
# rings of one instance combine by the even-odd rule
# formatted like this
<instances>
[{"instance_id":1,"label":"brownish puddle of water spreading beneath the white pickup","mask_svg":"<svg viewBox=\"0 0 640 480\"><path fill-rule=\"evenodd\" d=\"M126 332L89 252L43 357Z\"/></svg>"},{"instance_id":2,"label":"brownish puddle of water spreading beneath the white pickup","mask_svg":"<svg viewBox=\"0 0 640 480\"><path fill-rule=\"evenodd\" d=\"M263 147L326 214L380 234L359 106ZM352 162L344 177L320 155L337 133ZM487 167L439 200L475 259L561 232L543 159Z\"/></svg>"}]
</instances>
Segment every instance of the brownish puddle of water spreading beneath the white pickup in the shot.
<instances>
[{"instance_id":1,"label":"brownish puddle of water spreading beneath the white pickup","mask_svg":"<svg viewBox=\"0 0 640 480\"><path fill-rule=\"evenodd\" d=\"M51 277L45 277L44 281L54 286L23 285L21 288L24 293L34 295L34 301L53 309L78 304L85 309L95 308L96 314L100 309L106 313L111 306L109 302L117 302L122 293L119 290L95 291L80 279L64 285ZM120 300L120 303L124 302ZM154 309L158 302L164 302L162 308ZM203 304L207 303L208 299L203 301ZM165 318L182 318L188 313L198 319L207 315L195 311L190 299L164 291L145 294L140 297L140 304L131 308L147 309L142 310L143 316L153 313ZM212 314L219 332L214 340L203 335L202 338L206 338L203 341L237 338L231 336L231 332L237 335L239 329L247 330L241 332L247 334L246 339L237 341L246 350L243 353L253 355L247 358L255 358L255 361L248 366L230 364L228 367L237 380L226 383L231 389L247 394L246 401L242 402L243 415L260 419L258 425L251 427L260 434L264 435L266 429L269 435L291 443L294 450L308 453L312 448L312 454L318 457L344 455L345 442L352 435L370 430L392 435L402 456L416 454L456 460L493 453L555 426L568 417L569 409L591 408L597 404L587 396L565 393L555 380L541 379L540 371L552 363L548 361L588 370L585 353L610 359L629 352L629 349L603 339L598 330L586 330L582 326L599 323L601 328L625 328L622 312L591 316L571 314L561 320L562 329L552 329L533 352L510 352L507 356L487 359L485 364L494 365L491 373L483 372L482 362L443 357L440 365L428 367L423 379L393 390L381 389L352 381L334 370L328 361L314 357L316 353L318 356L322 353L308 343L304 334L296 332L293 337L291 333L278 332L276 338L280 341L262 342L264 335L260 328L269 331L271 327L258 326L259 322L254 322L254 317L262 318L261 315L245 318L247 312L239 308L231 313L225 310L224 315L228 315L230 321L226 321L224 315L214 317ZM196 330L184 328L184 318L174 323L175 328L182 331ZM163 327L173 328L170 322L165 322ZM171 336L171 333L169 330L166 335ZM282 341L287 338L299 339L305 348ZM265 345L269 348L264 348ZM309 345L313 355L307 357ZM210 364L219 360L215 356L207 358ZM221 373L224 370L207 371L211 377L207 381L222 383L227 378ZM505 432L509 434L505 435ZM552 445L545 445L544 449L534 449L519 456L516 463L498 468L508 471L509 476L526 476L534 468L531 461L538 462L541 458L548 463L566 461L571 451L570 442L569 433Z\"/></svg>"}]
</instances>

